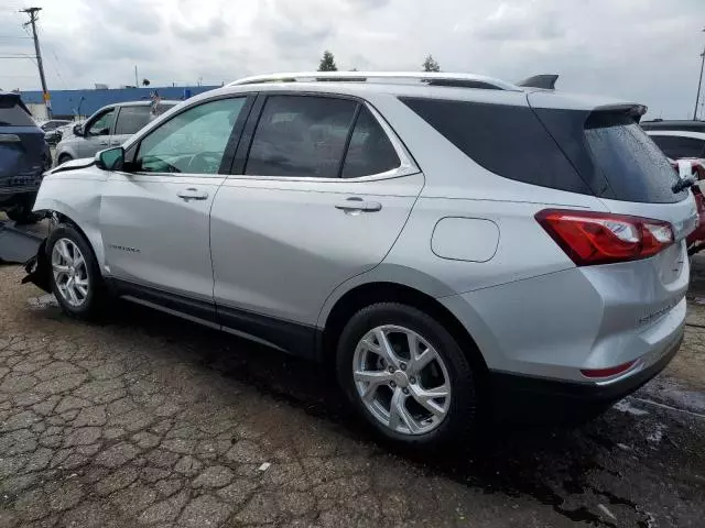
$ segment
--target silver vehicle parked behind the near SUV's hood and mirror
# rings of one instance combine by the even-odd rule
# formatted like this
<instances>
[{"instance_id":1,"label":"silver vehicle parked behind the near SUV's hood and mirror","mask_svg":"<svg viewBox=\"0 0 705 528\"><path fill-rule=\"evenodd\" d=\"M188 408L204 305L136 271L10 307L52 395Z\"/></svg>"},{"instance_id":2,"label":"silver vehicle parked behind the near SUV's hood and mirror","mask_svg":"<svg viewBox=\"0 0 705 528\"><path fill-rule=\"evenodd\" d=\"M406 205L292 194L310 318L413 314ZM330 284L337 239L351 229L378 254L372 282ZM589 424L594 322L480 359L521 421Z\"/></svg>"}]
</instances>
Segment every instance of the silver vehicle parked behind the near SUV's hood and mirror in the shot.
<instances>
[{"instance_id":1,"label":"silver vehicle parked behind the near SUV's hood and mirror","mask_svg":"<svg viewBox=\"0 0 705 528\"><path fill-rule=\"evenodd\" d=\"M180 101L131 101L101 108L85 123L75 124L56 145L56 164L93 157L97 152L129 140L151 120Z\"/></svg>"}]
</instances>

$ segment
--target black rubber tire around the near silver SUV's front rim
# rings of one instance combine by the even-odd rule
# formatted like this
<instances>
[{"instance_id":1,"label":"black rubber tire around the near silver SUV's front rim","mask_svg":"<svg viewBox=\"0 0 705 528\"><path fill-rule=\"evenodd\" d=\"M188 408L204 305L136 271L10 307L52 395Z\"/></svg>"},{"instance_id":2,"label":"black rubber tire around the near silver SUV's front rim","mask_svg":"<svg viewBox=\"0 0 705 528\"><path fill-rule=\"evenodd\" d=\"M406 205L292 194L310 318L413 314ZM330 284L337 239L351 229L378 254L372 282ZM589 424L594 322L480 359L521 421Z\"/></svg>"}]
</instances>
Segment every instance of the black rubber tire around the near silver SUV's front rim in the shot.
<instances>
[{"instance_id":1,"label":"black rubber tire around the near silver SUV's front rim","mask_svg":"<svg viewBox=\"0 0 705 528\"><path fill-rule=\"evenodd\" d=\"M52 252L54 251L54 246L62 239L68 239L70 242L76 244L84 256L86 263L85 271L88 276L89 285L88 294L85 296L83 302L79 306L70 305L59 292L58 286L56 285L54 273L52 270L50 270L50 284L52 286L52 292L54 293L54 296L56 297L59 306L67 315L76 317L78 319L96 319L102 314L102 309L105 307L105 301L107 298L107 290L102 280L102 276L100 274L100 268L98 266L96 255L88 241L80 232L78 232L76 228L68 223L61 223L54 230L52 230L48 239L46 240L46 255L50 266L52 263Z\"/></svg>"}]
</instances>

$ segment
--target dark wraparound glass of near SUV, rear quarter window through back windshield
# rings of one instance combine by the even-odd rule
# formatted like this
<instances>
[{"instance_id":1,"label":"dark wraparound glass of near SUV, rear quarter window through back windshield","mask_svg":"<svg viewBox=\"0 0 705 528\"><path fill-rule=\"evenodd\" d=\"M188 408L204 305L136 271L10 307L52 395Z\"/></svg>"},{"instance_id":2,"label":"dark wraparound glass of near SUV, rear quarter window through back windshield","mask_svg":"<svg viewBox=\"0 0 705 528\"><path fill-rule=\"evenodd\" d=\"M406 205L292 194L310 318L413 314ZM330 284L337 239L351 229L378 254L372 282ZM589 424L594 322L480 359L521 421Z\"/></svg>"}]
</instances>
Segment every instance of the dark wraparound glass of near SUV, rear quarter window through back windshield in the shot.
<instances>
[{"instance_id":1,"label":"dark wraparound glass of near SUV, rear quarter window through back windshield","mask_svg":"<svg viewBox=\"0 0 705 528\"><path fill-rule=\"evenodd\" d=\"M674 202L677 175L626 113L402 98L488 170L527 184L623 201Z\"/></svg>"}]
</instances>

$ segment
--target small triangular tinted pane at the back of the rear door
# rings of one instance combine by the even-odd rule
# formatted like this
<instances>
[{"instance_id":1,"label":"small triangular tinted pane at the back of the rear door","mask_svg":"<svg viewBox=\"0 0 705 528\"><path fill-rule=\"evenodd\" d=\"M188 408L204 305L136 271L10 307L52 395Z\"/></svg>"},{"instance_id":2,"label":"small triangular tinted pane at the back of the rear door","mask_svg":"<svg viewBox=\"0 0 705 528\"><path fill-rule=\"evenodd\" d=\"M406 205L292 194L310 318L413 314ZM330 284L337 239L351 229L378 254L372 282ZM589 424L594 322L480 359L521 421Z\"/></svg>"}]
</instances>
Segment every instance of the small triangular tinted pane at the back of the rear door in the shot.
<instances>
[{"instance_id":1,"label":"small triangular tinted pane at the back of the rear door","mask_svg":"<svg viewBox=\"0 0 705 528\"><path fill-rule=\"evenodd\" d=\"M399 155L372 113L361 107L343 165L344 178L386 173L401 165Z\"/></svg>"}]
</instances>

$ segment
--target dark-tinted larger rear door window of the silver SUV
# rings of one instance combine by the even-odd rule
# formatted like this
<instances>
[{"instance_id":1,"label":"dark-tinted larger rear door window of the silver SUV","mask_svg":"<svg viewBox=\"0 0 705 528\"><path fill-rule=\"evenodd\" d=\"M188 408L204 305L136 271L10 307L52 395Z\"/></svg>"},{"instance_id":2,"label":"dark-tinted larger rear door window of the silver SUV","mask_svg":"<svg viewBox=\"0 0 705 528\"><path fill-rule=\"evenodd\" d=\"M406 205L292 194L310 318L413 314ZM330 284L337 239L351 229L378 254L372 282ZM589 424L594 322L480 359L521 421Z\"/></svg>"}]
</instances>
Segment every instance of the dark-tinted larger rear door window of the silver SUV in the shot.
<instances>
[{"instance_id":1,"label":"dark-tinted larger rear door window of the silver SUV","mask_svg":"<svg viewBox=\"0 0 705 528\"><path fill-rule=\"evenodd\" d=\"M356 108L329 97L269 97L245 174L337 178Z\"/></svg>"}]
</instances>

